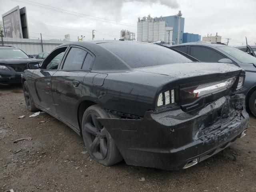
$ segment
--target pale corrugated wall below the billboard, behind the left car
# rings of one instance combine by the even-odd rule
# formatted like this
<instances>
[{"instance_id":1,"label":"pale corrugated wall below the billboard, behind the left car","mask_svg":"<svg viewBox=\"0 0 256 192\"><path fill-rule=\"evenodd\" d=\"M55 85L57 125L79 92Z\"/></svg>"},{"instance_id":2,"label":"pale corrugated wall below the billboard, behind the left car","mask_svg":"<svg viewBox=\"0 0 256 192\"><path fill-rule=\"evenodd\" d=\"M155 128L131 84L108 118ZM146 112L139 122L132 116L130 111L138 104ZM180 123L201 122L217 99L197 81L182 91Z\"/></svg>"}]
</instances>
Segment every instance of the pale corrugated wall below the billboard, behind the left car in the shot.
<instances>
[{"instance_id":1,"label":"pale corrugated wall below the billboard, behind the left car","mask_svg":"<svg viewBox=\"0 0 256 192\"><path fill-rule=\"evenodd\" d=\"M68 41L60 40L42 40L44 52L52 51L57 46ZM15 46L28 55L37 55L42 51L41 40L38 39L20 39L20 38L0 38L0 45Z\"/></svg>"}]
</instances>

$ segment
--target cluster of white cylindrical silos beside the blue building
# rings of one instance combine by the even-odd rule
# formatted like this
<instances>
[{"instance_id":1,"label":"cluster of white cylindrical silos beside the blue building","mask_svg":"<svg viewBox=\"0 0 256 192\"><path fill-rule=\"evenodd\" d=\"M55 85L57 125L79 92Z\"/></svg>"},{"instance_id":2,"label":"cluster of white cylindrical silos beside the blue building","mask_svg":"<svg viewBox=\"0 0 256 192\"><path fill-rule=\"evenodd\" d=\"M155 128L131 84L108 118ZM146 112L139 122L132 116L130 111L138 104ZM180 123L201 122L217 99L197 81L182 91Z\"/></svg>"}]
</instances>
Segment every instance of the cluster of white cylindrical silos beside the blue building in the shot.
<instances>
[{"instance_id":1,"label":"cluster of white cylindrical silos beside the blue building","mask_svg":"<svg viewBox=\"0 0 256 192\"><path fill-rule=\"evenodd\" d=\"M138 18L137 23L137 41L156 42L166 41L172 42L172 27L168 27L166 22L160 18L148 17Z\"/></svg>"}]
</instances>

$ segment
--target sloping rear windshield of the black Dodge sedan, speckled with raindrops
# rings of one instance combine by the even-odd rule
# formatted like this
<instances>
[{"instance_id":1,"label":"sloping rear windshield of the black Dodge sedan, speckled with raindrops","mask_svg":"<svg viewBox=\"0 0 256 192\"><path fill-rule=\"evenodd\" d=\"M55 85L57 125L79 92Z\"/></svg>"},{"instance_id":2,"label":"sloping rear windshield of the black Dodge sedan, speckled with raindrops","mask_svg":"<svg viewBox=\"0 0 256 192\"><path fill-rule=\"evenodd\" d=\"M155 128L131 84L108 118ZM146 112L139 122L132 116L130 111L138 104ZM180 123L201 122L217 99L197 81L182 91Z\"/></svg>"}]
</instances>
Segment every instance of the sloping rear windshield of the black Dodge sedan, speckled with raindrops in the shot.
<instances>
[{"instance_id":1,"label":"sloping rear windshield of the black Dodge sedan, speckled with raindrops","mask_svg":"<svg viewBox=\"0 0 256 192\"><path fill-rule=\"evenodd\" d=\"M108 42L98 44L116 54L131 68L140 68L171 63L192 62L169 48L137 42Z\"/></svg>"}]
</instances>

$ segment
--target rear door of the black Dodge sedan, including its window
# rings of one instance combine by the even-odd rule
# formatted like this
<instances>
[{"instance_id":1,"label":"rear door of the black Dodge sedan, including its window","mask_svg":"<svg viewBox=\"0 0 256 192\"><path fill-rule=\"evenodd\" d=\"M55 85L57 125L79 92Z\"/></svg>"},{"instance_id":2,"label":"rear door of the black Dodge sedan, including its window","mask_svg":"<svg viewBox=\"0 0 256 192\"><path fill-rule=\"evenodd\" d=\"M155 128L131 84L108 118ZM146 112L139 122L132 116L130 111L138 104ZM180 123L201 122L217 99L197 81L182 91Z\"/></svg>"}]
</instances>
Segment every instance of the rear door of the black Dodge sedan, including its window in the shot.
<instances>
[{"instance_id":1,"label":"rear door of the black Dodge sedan, including its window","mask_svg":"<svg viewBox=\"0 0 256 192\"><path fill-rule=\"evenodd\" d=\"M52 94L57 115L75 128L79 128L77 108L84 77L91 70L92 55L80 46L70 46L61 68L52 76Z\"/></svg>"}]
</instances>

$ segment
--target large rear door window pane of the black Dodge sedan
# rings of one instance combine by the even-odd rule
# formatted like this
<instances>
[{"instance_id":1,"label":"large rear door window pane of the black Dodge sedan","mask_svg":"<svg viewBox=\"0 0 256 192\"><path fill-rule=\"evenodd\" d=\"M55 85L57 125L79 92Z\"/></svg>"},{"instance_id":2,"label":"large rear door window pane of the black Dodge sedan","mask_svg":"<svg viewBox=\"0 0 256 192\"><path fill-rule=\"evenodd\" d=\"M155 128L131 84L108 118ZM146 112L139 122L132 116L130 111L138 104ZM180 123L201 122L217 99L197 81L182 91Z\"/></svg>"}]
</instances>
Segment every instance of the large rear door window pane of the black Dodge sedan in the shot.
<instances>
[{"instance_id":1,"label":"large rear door window pane of the black Dodge sedan","mask_svg":"<svg viewBox=\"0 0 256 192\"><path fill-rule=\"evenodd\" d=\"M63 70L80 70L87 52L80 48L72 47L62 67Z\"/></svg>"}]
</instances>

